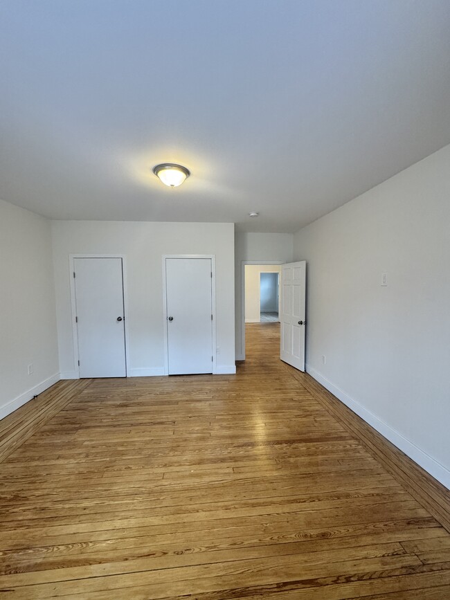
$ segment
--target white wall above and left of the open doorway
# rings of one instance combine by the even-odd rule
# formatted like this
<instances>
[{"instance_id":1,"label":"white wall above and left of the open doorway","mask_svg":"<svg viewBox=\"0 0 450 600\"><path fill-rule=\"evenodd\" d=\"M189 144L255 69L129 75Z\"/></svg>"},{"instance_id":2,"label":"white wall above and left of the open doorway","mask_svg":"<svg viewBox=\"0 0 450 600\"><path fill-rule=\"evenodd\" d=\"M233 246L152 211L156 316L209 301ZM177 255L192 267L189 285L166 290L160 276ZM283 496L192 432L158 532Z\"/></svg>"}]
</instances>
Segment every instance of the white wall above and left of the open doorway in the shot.
<instances>
[{"instance_id":1,"label":"white wall above and left of the open doorway","mask_svg":"<svg viewBox=\"0 0 450 600\"><path fill-rule=\"evenodd\" d=\"M242 271L245 261L291 262L293 235L291 233L240 233L235 235L235 331L236 360L245 358L242 310Z\"/></svg>"}]
</instances>

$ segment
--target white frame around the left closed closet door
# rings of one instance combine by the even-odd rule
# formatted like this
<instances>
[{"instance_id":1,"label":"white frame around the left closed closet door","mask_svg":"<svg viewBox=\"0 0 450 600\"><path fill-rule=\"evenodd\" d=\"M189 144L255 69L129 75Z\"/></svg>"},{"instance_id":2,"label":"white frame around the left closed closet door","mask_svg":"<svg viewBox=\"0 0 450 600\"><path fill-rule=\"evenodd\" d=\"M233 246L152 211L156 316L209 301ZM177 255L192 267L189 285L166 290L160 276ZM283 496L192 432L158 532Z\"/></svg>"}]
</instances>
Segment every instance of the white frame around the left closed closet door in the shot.
<instances>
[{"instance_id":1,"label":"white frame around the left closed closet door","mask_svg":"<svg viewBox=\"0 0 450 600\"><path fill-rule=\"evenodd\" d=\"M73 340L73 372L74 379L80 379L80 352L78 349L78 327L75 320L77 316L77 304L75 295L75 258L120 258L122 259L122 285L123 285L123 314L125 330L125 377L129 376L129 337L128 337L128 292L127 292L127 257L125 254L69 254L69 283L71 290L71 318L72 318L72 340Z\"/></svg>"}]
</instances>

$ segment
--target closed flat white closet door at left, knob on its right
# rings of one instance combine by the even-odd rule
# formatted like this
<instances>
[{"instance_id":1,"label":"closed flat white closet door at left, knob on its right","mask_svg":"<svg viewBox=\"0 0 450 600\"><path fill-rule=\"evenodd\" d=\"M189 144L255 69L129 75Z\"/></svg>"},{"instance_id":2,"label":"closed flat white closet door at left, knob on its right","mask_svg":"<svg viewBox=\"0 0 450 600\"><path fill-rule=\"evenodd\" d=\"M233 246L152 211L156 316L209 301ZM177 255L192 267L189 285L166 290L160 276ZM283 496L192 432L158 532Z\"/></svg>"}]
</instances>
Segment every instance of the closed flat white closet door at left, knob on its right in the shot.
<instances>
[{"instance_id":1,"label":"closed flat white closet door at left, knob on its right","mask_svg":"<svg viewBox=\"0 0 450 600\"><path fill-rule=\"evenodd\" d=\"M126 377L121 258L75 258L80 377Z\"/></svg>"}]
</instances>

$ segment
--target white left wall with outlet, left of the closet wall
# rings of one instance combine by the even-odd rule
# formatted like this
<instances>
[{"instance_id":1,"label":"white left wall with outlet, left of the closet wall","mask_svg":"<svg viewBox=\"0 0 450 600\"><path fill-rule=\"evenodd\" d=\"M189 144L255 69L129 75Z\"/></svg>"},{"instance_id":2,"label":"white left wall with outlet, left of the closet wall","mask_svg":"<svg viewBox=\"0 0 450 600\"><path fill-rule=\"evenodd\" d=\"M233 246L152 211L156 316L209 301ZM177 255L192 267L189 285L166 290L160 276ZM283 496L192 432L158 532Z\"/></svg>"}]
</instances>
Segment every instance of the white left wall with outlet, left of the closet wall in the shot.
<instances>
[{"instance_id":1,"label":"white left wall with outlet, left of the closet wall","mask_svg":"<svg viewBox=\"0 0 450 600\"><path fill-rule=\"evenodd\" d=\"M0 256L1 419L60 379L47 219L0 201Z\"/></svg>"}]
</instances>

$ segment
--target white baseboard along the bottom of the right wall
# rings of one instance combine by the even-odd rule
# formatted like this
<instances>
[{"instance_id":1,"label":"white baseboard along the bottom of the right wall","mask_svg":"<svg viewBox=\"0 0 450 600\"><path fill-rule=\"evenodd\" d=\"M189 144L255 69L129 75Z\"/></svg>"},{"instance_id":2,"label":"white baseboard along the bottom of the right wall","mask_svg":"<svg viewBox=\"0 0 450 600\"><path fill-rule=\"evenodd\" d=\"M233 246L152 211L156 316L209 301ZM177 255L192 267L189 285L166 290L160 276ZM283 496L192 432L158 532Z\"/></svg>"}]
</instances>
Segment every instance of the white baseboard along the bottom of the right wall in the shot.
<instances>
[{"instance_id":1,"label":"white baseboard along the bottom of the right wall","mask_svg":"<svg viewBox=\"0 0 450 600\"><path fill-rule=\"evenodd\" d=\"M406 456L422 466L422 469L425 469L425 471L433 478L437 479L442 485L447 487L447 489L450 489L450 471L443 464L440 464L440 462L426 454L418 446L413 444L413 442L404 437L404 435L379 419L373 412L364 408L357 400L350 398L350 396L341 390L341 388L338 388L337 385L328 381L326 377L316 371L311 365L306 365L306 372L343 402L345 406L348 406L350 410L356 412L361 419L376 429L378 433L381 433L382 436L386 437L389 442L392 442L394 446L397 446L397 448L404 452Z\"/></svg>"}]
</instances>

